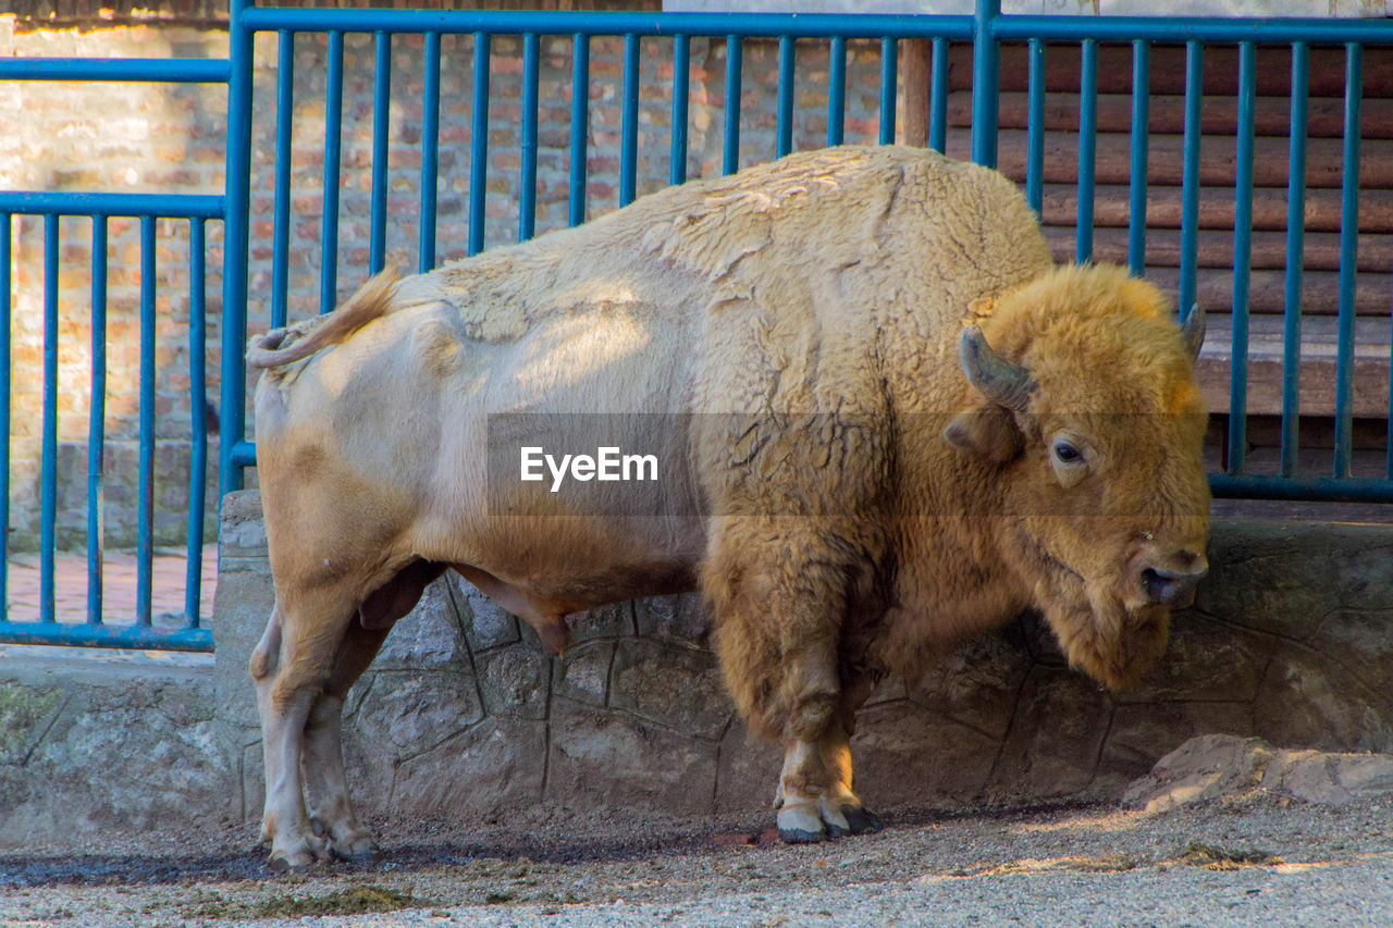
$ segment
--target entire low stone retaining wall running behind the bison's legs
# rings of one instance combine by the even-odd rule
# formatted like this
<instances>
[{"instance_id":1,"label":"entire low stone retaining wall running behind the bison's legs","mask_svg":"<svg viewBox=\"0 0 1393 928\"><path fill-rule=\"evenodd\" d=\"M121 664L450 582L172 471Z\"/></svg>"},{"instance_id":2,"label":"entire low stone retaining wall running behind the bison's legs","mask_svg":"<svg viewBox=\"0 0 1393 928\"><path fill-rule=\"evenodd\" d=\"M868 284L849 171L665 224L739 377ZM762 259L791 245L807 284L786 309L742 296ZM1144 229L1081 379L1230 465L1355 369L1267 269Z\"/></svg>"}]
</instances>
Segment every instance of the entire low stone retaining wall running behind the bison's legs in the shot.
<instances>
[{"instance_id":1,"label":"entire low stone retaining wall running behind the bison's legs","mask_svg":"<svg viewBox=\"0 0 1393 928\"><path fill-rule=\"evenodd\" d=\"M1393 528L1220 521L1209 556L1169 654L1126 695L1070 672L1029 617L922 680L890 681L853 741L858 791L880 811L1119 798L1158 758L1211 733L1393 750ZM0 649L0 850L255 821L247 659L272 599L259 496L234 493L213 666ZM779 751L734 716L696 598L621 603L573 628L577 647L547 658L458 578L432 585L348 701L359 808L465 826L538 803L690 817L768 808Z\"/></svg>"}]
</instances>

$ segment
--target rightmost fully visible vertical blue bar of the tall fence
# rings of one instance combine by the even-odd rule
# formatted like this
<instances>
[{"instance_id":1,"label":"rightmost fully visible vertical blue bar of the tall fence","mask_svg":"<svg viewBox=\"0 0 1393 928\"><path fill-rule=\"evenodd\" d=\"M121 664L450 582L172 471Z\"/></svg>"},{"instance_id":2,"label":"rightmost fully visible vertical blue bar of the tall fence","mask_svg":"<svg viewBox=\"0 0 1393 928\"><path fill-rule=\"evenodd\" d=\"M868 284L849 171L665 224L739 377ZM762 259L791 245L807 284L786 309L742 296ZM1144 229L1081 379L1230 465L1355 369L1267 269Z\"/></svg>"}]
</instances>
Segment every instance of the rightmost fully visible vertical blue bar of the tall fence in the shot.
<instances>
[{"instance_id":1,"label":"rightmost fully visible vertical blue bar of the tall fence","mask_svg":"<svg viewBox=\"0 0 1393 928\"><path fill-rule=\"evenodd\" d=\"M1340 322L1334 357L1334 475L1350 477L1354 443L1354 281L1360 245L1360 103L1364 46L1344 46L1344 146L1340 183Z\"/></svg>"}]
</instances>

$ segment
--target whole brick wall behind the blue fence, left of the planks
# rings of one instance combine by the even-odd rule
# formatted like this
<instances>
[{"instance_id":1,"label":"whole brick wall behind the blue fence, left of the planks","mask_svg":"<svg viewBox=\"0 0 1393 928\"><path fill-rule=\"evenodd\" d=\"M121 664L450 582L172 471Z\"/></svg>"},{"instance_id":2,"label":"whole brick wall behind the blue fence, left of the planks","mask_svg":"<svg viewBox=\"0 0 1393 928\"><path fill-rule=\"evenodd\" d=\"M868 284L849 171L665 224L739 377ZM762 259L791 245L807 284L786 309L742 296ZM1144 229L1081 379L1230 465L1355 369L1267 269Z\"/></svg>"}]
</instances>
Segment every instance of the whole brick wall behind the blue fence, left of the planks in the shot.
<instances>
[{"instance_id":1,"label":"whole brick wall behind the blue fence, left of the planks","mask_svg":"<svg viewBox=\"0 0 1393 928\"><path fill-rule=\"evenodd\" d=\"M387 262L417 266L421 187L422 39L396 36L391 49ZM437 261L464 256L469 196L472 38L442 40L442 102ZM543 38L536 231L567 222L570 177L571 42ZM92 31L17 26L0 17L0 54L224 57L227 33L189 25L123 25ZM671 43L641 43L638 192L669 177ZM251 329L269 325L270 235L276 124L276 36L259 36L255 54L251 178ZM323 36L295 40L293 219L288 307L291 318L319 308L320 219L325 145ZM588 217L618 205L618 141L623 43L591 42ZM720 171L724 118L724 39L691 43L688 177ZM521 120L521 40L492 42L486 245L517 240ZM827 47L800 42L795 148L826 139ZM777 46L747 42L741 98L741 163L773 157ZM847 67L847 142L879 132L879 43L853 43ZM372 162L373 46L350 35L344 53L343 173L340 177L338 298L366 276ZM227 93L220 85L117 85L0 82L0 111L22 113L0 134L0 188L100 190L216 194L223 190ZM11 545L32 546L38 532L38 485L43 355L43 220L15 217L13 277L13 492ZM188 504L189 346L188 223L157 223L156 534L160 543L184 539ZM109 223L106 527L110 545L134 541L139 383L139 223ZM59 432L60 541L85 543L86 436L91 397L92 223L60 223ZM208 224L209 396L217 401L221 224ZM216 440L210 454L216 461ZM216 464L209 468L216 471ZM210 496L210 499L213 499ZM212 521L208 523L212 528Z\"/></svg>"}]
</instances>

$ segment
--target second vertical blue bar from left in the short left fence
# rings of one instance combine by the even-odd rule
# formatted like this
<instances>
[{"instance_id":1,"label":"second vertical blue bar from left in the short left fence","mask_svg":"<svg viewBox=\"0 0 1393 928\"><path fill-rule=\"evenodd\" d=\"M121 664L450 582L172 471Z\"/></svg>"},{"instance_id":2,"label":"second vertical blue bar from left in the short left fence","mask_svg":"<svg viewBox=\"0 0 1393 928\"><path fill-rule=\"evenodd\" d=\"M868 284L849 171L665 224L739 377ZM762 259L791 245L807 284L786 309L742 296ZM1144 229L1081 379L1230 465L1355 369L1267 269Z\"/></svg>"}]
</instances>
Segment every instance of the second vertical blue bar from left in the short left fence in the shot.
<instances>
[{"instance_id":1,"label":"second vertical blue bar from left in the short left fence","mask_svg":"<svg viewBox=\"0 0 1393 928\"><path fill-rule=\"evenodd\" d=\"M39 620L56 621L59 511L59 217L43 217L43 421L39 464ZM7 439L8 440L8 439Z\"/></svg>"}]
</instances>

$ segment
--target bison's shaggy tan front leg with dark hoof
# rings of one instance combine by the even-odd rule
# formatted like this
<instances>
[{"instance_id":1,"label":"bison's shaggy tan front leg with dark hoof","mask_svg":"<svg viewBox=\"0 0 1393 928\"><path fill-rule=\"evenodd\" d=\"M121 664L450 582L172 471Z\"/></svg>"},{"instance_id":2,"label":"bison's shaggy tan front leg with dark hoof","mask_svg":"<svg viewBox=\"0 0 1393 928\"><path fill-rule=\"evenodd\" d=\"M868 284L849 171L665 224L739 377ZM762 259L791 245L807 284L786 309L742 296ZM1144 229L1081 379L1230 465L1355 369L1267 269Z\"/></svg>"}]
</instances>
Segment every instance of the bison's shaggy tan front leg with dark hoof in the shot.
<instances>
[{"instance_id":1,"label":"bison's shaggy tan front leg with dark hoof","mask_svg":"<svg viewBox=\"0 0 1393 928\"><path fill-rule=\"evenodd\" d=\"M833 563L818 539L800 539L787 524L777 527L780 536L759 523L717 525L702 582L737 708L756 734L784 745L779 835L808 843L875 830L879 821L851 790L858 698L839 673L841 623L855 596L848 578L857 571Z\"/></svg>"}]
</instances>

